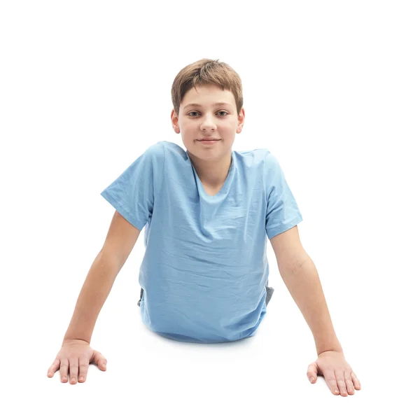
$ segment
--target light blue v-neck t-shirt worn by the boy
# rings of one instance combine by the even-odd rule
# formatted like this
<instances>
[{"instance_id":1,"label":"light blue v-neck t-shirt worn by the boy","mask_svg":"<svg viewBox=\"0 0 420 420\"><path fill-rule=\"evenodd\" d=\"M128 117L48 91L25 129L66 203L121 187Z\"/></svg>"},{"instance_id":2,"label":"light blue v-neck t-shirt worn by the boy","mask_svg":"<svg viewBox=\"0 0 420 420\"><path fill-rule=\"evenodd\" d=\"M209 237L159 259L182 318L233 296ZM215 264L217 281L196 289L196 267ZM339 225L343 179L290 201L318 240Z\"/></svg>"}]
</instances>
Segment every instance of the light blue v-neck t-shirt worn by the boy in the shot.
<instances>
[{"instance_id":1,"label":"light blue v-neck t-shirt worn by the boy","mask_svg":"<svg viewBox=\"0 0 420 420\"><path fill-rule=\"evenodd\" d=\"M144 324L181 342L251 337L266 313L271 239L302 221L267 149L232 151L223 188L208 195L188 153L159 141L101 193L144 233Z\"/></svg>"}]
</instances>

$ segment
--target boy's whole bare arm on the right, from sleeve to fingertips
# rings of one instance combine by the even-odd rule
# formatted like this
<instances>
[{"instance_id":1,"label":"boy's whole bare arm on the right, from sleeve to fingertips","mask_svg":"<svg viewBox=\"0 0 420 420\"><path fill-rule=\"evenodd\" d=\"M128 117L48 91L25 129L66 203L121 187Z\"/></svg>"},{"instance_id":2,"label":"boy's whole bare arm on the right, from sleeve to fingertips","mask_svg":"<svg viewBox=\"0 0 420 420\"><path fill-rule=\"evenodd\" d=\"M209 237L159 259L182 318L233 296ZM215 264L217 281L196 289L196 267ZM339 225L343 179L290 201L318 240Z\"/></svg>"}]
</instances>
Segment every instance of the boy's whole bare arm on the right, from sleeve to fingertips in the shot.
<instances>
[{"instance_id":1,"label":"boy's whole bare arm on the right, from sleeve to fingertips","mask_svg":"<svg viewBox=\"0 0 420 420\"><path fill-rule=\"evenodd\" d=\"M360 390L360 381L344 359L342 346L332 327L318 272L300 243L297 225L272 237L270 242L281 278L314 335L318 358L308 367L309 381L314 384L319 373L335 395L341 393L347 396L348 393L353 394L355 388Z\"/></svg>"}]
</instances>

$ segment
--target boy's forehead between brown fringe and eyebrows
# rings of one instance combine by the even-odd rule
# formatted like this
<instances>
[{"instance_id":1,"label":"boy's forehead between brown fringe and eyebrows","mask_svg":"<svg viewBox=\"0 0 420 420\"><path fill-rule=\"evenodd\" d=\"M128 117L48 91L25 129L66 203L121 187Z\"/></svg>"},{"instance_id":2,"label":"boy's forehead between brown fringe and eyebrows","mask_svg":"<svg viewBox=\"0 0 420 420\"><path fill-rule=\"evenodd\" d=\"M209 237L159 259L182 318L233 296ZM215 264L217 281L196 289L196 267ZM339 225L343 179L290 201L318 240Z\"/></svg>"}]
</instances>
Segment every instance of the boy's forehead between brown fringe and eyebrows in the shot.
<instances>
[{"instance_id":1,"label":"boy's forehead between brown fringe and eyebrows","mask_svg":"<svg viewBox=\"0 0 420 420\"><path fill-rule=\"evenodd\" d=\"M211 107L221 105L221 102L224 106L234 106L235 104L235 97L230 90L222 90L215 85L197 86L196 88L197 90L194 87L188 90L183 97L181 106L185 108L188 105Z\"/></svg>"}]
</instances>

